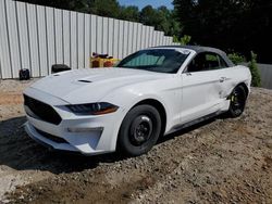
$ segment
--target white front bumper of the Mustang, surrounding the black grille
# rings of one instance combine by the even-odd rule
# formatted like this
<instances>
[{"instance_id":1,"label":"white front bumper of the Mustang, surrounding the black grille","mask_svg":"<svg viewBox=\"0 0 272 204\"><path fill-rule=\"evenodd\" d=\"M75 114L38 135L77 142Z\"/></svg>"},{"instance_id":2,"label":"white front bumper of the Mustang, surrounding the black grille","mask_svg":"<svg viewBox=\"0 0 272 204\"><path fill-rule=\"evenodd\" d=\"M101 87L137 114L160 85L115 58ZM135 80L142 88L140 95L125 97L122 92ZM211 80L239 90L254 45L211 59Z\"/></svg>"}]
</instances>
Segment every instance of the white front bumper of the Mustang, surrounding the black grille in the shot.
<instances>
[{"instance_id":1,"label":"white front bumper of the Mustang, surrounding the black grille","mask_svg":"<svg viewBox=\"0 0 272 204\"><path fill-rule=\"evenodd\" d=\"M32 97L33 94L26 93ZM124 117L122 109L115 113L99 116L77 116L67 109L63 109L64 101L47 93L35 91L35 99L50 104L61 116L59 125L27 116L25 131L37 142L55 150L79 152L86 155L96 155L114 152L118 133ZM51 98L51 100L50 100ZM58 102L59 101L59 102ZM61 104L61 105L58 105ZM27 109L27 107L25 107Z\"/></svg>"}]
</instances>

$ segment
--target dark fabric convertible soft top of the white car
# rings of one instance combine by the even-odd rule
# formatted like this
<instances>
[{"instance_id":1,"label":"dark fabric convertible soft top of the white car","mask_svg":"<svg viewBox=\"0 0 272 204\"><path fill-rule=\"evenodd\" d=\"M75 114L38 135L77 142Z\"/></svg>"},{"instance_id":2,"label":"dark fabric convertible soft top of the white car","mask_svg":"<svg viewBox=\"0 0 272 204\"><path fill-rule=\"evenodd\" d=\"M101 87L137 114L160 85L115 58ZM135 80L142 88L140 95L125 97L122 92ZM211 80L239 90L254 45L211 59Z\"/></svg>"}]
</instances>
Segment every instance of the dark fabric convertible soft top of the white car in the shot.
<instances>
[{"instance_id":1,"label":"dark fabric convertible soft top of the white car","mask_svg":"<svg viewBox=\"0 0 272 204\"><path fill-rule=\"evenodd\" d=\"M227 63L228 66L234 66L233 62L227 58L226 53L217 48L202 47L202 46L160 46L156 48L184 48L184 49L194 50L196 53L212 52L222 56L222 59L224 59L224 61Z\"/></svg>"}]
</instances>

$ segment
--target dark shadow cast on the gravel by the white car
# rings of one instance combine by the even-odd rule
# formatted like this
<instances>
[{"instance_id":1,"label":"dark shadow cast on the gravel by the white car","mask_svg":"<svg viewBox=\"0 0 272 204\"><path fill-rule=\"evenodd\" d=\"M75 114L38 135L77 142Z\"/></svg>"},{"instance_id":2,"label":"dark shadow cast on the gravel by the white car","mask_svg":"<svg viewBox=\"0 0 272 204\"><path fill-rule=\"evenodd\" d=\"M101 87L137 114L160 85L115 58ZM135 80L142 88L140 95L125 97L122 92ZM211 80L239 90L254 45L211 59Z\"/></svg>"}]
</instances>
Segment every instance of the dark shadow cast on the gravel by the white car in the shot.
<instances>
[{"instance_id":1,"label":"dark shadow cast on the gravel by the white car","mask_svg":"<svg viewBox=\"0 0 272 204\"><path fill-rule=\"evenodd\" d=\"M41 170L62 174L92 169L96 168L99 163L114 163L126 158L120 153L84 156L71 152L49 150L27 136L23 127L25 122L25 117L0 122L0 165L16 170ZM182 137L212 122L214 122L214 119L209 119L162 137L158 141L158 144L174 139L175 137Z\"/></svg>"}]
</instances>

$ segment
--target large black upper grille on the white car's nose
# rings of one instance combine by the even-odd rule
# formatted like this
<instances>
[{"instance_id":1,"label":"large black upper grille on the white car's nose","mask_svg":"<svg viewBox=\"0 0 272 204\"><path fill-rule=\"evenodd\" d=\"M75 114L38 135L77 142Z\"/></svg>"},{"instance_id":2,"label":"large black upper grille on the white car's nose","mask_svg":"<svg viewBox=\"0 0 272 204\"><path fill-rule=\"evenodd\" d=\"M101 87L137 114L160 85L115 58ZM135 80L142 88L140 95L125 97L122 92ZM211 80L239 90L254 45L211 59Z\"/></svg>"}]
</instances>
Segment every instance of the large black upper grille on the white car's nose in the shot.
<instances>
[{"instance_id":1,"label":"large black upper grille on the white car's nose","mask_svg":"<svg viewBox=\"0 0 272 204\"><path fill-rule=\"evenodd\" d=\"M28 115L54 125L59 125L61 123L60 115L50 105L42 103L30 97L27 97L25 94L24 94L24 100L25 100L25 105L32 112L27 113Z\"/></svg>"}]
</instances>

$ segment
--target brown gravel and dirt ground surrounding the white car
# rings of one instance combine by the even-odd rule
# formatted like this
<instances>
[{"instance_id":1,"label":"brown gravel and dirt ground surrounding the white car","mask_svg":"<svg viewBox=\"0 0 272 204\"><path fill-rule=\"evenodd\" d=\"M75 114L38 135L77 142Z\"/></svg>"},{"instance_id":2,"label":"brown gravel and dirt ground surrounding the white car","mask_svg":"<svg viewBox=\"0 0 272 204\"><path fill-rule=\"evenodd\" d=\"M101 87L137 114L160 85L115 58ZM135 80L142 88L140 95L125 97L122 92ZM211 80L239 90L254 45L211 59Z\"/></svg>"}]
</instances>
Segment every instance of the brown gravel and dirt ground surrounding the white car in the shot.
<instances>
[{"instance_id":1,"label":"brown gravel and dirt ground surrounding the white car","mask_svg":"<svg viewBox=\"0 0 272 204\"><path fill-rule=\"evenodd\" d=\"M242 117L166 136L146 155L85 157L26 136L21 93L32 82L0 82L0 201L272 203L272 91L252 89Z\"/></svg>"}]
</instances>

